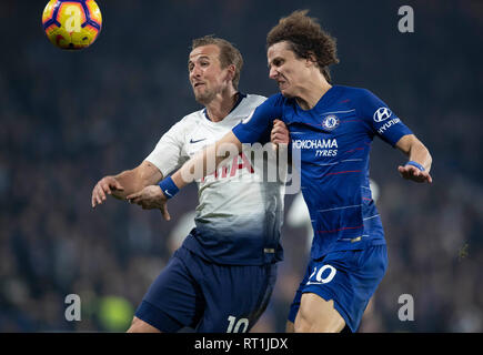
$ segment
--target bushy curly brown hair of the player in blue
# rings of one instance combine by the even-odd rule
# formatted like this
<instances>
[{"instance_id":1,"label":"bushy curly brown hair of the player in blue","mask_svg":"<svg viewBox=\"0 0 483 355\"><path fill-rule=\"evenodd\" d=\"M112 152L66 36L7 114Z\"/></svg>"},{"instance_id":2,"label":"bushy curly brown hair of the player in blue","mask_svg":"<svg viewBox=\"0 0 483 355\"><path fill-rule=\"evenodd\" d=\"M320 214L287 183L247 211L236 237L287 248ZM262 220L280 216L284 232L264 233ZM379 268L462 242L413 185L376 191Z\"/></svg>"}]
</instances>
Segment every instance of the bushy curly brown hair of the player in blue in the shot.
<instances>
[{"instance_id":1,"label":"bushy curly brown hair of the player in blue","mask_svg":"<svg viewBox=\"0 0 483 355\"><path fill-rule=\"evenodd\" d=\"M321 73L331 82L329 65L339 63L336 40L325 32L318 20L306 16L309 10L298 10L280 19L266 34L266 49L286 41L296 58L314 57Z\"/></svg>"}]
</instances>

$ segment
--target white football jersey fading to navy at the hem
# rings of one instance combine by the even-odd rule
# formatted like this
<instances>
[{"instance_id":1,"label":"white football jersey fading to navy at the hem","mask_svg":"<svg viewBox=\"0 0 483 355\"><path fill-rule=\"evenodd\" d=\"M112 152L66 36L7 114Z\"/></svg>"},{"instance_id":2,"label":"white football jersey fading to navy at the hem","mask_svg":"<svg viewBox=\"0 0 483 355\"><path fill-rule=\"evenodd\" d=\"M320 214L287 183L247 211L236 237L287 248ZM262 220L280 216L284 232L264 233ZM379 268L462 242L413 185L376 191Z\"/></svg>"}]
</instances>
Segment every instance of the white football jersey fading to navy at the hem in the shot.
<instances>
[{"instance_id":1,"label":"white football jersey fading to navy at the hem","mask_svg":"<svg viewBox=\"0 0 483 355\"><path fill-rule=\"evenodd\" d=\"M249 118L264 100L260 95L242 95L220 122L209 120L205 109L188 114L161 138L145 160L168 176ZM264 164L256 159L265 160ZM266 166L266 159L260 155L251 161L250 152L243 150L217 172L197 182L197 227L184 246L222 264L264 264L282 258L279 240L284 184L266 182L266 171L260 166Z\"/></svg>"}]
</instances>

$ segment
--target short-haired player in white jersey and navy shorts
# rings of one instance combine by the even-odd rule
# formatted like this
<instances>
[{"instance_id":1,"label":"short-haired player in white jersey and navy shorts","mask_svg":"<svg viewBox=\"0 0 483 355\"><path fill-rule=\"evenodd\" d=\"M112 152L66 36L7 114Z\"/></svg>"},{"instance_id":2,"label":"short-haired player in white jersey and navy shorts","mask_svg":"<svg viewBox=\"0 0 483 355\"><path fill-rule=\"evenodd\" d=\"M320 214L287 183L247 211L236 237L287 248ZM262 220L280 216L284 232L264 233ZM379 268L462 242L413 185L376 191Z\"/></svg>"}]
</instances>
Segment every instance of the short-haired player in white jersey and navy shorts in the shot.
<instances>
[{"instance_id":1,"label":"short-haired player in white jersey and navy shorts","mask_svg":"<svg viewBox=\"0 0 483 355\"><path fill-rule=\"evenodd\" d=\"M157 209L149 196L161 191L152 185L231 132L265 100L238 91L242 63L239 50L227 40L211 36L193 40L189 79L204 109L174 124L141 165L100 180L92 206L109 194L125 200L143 191L148 197L140 205ZM270 130L265 139L270 141ZM284 194L283 183L264 180L256 166L240 152L229 169L198 181L195 229L151 284L129 332L192 327L242 333L256 323L272 294L276 263L283 258Z\"/></svg>"}]
</instances>

